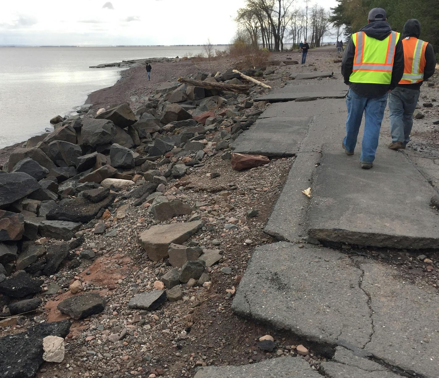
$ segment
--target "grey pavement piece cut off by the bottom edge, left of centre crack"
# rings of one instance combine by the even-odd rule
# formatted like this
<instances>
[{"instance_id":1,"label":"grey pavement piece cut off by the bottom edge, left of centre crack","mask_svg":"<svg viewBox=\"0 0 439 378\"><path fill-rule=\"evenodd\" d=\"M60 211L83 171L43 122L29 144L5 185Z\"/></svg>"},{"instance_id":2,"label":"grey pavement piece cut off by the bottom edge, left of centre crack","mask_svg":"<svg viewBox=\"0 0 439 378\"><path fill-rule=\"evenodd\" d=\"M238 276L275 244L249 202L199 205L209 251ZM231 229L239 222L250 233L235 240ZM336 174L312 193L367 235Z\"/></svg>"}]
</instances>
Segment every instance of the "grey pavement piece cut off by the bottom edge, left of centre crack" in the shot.
<instances>
[{"instance_id":1,"label":"grey pavement piece cut off by the bottom edge, left of centre crack","mask_svg":"<svg viewBox=\"0 0 439 378\"><path fill-rule=\"evenodd\" d=\"M321 378L300 357L280 357L243 366L203 367L194 378Z\"/></svg>"}]
</instances>

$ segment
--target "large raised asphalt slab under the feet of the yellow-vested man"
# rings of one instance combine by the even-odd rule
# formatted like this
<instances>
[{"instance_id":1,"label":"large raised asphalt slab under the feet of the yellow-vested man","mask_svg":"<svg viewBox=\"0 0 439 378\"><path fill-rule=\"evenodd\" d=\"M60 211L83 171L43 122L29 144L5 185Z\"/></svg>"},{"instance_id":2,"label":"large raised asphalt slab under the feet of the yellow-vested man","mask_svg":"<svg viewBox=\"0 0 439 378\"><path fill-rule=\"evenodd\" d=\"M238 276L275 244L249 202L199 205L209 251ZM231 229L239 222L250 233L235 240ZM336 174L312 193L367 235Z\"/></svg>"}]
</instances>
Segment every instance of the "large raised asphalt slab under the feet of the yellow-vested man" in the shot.
<instances>
[{"instance_id":1,"label":"large raised asphalt slab under the feet of the yellow-vested man","mask_svg":"<svg viewBox=\"0 0 439 378\"><path fill-rule=\"evenodd\" d=\"M438 248L432 186L403 154L378 148L368 171L360 169L359 155L324 145L310 185L309 235L376 247Z\"/></svg>"}]
</instances>

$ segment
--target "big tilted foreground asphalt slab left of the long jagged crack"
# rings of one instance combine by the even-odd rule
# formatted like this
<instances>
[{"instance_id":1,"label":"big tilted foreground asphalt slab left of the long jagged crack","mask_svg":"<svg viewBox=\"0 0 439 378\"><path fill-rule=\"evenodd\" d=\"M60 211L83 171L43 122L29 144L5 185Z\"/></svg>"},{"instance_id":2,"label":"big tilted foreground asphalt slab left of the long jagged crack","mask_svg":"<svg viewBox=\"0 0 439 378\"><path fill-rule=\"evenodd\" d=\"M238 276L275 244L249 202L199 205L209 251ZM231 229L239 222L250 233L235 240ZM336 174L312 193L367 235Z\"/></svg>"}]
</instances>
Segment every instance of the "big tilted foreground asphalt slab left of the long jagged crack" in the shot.
<instances>
[{"instance_id":1,"label":"big tilted foreground asphalt slab left of the long jagged crack","mask_svg":"<svg viewBox=\"0 0 439 378\"><path fill-rule=\"evenodd\" d=\"M362 272L338 251L279 242L257 247L232 309L312 342L363 346L372 332Z\"/></svg>"}]
</instances>

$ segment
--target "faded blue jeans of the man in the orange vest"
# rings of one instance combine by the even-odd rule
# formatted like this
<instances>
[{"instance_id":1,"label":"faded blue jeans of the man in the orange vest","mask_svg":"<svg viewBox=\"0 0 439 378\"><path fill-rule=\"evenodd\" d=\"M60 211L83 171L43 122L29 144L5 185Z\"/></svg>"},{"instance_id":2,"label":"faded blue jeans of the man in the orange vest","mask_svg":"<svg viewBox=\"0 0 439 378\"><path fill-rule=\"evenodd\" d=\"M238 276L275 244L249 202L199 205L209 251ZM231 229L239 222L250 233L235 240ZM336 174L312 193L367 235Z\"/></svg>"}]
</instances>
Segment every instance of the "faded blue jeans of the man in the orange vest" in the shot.
<instances>
[{"instance_id":1,"label":"faded blue jeans of the man in the orange vest","mask_svg":"<svg viewBox=\"0 0 439 378\"><path fill-rule=\"evenodd\" d=\"M389 94L390 133L392 142L410 142L413 112L419 99L419 90L396 87Z\"/></svg>"}]
</instances>

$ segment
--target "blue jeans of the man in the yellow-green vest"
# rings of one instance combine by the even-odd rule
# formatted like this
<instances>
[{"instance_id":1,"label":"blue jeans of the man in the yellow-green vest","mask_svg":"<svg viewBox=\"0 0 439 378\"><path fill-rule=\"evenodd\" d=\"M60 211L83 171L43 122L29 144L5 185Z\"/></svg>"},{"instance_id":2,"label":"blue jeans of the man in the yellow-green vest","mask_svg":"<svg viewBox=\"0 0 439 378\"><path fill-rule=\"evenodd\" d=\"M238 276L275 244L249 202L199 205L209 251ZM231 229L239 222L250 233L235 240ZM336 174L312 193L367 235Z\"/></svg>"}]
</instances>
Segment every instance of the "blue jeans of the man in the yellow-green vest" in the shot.
<instances>
[{"instance_id":1,"label":"blue jeans of the man in the yellow-green vest","mask_svg":"<svg viewBox=\"0 0 439 378\"><path fill-rule=\"evenodd\" d=\"M343 143L348 151L354 151L364 113L365 124L360 157L362 163L372 163L375 160L386 104L387 93L381 97L367 98L359 96L352 89L348 91L346 97L348 119L346 120L346 136Z\"/></svg>"}]
</instances>

